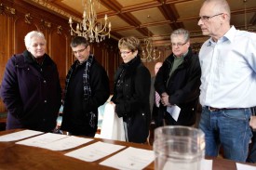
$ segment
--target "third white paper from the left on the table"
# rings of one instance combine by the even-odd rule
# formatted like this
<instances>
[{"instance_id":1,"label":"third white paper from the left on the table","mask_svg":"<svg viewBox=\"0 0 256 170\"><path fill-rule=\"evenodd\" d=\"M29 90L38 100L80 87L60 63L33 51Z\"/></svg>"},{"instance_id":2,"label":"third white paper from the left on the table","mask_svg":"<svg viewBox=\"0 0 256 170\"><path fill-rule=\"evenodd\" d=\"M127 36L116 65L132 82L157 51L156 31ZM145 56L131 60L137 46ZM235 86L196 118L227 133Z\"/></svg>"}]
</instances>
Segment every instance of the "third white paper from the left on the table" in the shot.
<instances>
[{"instance_id":1,"label":"third white paper from the left on the table","mask_svg":"<svg viewBox=\"0 0 256 170\"><path fill-rule=\"evenodd\" d=\"M60 140L55 140L47 145L41 146L41 148L45 148L48 150L69 150L75 148L79 145L88 143L93 139L91 138L84 138L84 137L65 137L61 138Z\"/></svg>"}]
</instances>

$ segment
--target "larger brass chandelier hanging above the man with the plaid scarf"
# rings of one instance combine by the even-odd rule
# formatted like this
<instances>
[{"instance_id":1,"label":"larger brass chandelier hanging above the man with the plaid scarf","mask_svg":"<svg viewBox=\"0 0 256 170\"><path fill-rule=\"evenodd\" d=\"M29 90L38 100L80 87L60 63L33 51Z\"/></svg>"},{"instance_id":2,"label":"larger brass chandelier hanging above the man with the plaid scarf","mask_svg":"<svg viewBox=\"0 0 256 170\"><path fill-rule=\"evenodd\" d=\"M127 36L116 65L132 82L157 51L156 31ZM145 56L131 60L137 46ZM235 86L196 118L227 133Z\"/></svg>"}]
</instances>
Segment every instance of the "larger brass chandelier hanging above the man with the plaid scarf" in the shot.
<instances>
[{"instance_id":1,"label":"larger brass chandelier hanging above the man with the plaid scarf","mask_svg":"<svg viewBox=\"0 0 256 170\"><path fill-rule=\"evenodd\" d=\"M101 21L97 21L97 14L94 7L94 2L97 2L100 7L100 0L82 0L82 6L84 6L83 20L76 24L74 29L72 24L72 17L69 18L69 24L71 28L71 35L74 33L78 36L84 36L90 43L94 41L100 43L108 35L110 38L111 22L108 21L108 17L105 14L104 24Z\"/></svg>"}]
</instances>

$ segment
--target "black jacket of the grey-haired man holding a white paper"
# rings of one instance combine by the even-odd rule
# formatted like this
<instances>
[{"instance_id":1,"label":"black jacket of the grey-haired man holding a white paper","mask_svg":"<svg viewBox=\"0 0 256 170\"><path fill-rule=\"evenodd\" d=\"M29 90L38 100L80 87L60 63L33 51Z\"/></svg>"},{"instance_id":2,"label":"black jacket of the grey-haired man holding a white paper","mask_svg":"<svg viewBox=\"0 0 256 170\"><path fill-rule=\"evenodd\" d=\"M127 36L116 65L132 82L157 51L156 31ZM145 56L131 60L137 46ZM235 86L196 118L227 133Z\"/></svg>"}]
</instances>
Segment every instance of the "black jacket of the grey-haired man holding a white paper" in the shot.
<instances>
[{"instance_id":1,"label":"black jacket of the grey-haired man holding a white paper","mask_svg":"<svg viewBox=\"0 0 256 170\"><path fill-rule=\"evenodd\" d=\"M178 122L175 124L192 125L195 124L195 112L200 94L201 69L199 60L193 54L191 48L189 48L188 54L184 57L182 64L171 74L168 81L169 71L173 61L174 56L171 54L157 72L155 90L159 94L167 92L169 103L181 108ZM168 85L166 85L167 81ZM165 116L167 113L166 110L166 107L160 105L159 116Z\"/></svg>"}]
</instances>

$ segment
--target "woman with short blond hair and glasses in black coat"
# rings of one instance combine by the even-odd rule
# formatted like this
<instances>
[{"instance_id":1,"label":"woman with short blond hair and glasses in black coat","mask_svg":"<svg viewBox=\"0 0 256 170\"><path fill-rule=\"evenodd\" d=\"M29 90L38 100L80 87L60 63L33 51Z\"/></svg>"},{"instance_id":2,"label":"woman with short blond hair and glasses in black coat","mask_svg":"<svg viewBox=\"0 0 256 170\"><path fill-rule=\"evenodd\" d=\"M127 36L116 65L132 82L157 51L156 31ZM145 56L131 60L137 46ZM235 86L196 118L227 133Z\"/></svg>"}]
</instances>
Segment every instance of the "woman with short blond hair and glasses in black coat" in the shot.
<instances>
[{"instance_id":1,"label":"woman with short blond hair and glasses in black coat","mask_svg":"<svg viewBox=\"0 0 256 170\"><path fill-rule=\"evenodd\" d=\"M135 37L121 38L118 42L122 64L115 72L115 112L124 121L128 142L144 143L150 123L149 93L151 75L142 64L140 41Z\"/></svg>"}]
</instances>

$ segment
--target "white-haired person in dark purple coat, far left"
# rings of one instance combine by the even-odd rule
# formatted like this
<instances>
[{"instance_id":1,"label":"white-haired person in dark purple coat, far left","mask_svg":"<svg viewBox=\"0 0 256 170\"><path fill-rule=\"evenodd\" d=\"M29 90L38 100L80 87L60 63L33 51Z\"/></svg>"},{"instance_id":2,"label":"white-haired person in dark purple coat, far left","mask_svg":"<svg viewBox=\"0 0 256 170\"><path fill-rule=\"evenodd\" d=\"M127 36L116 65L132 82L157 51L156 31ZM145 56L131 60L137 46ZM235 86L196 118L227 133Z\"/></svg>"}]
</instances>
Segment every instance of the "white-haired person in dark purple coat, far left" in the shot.
<instances>
[{"instance_id":1,"label":"white-haired person in dark purple coat, far left","mask_svg":"<svg viewBox=\"0 0 256 170\"><path fill-rule=\"evenodd\" d=\"M7 107L7 129L50 132L61 107L61 85L56 64L45 53L43 33L25 36L25 50L7 62L1 97Z\"/></svg>"}]
</instances>

